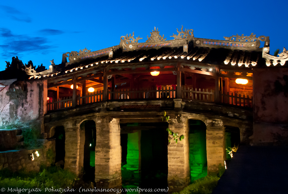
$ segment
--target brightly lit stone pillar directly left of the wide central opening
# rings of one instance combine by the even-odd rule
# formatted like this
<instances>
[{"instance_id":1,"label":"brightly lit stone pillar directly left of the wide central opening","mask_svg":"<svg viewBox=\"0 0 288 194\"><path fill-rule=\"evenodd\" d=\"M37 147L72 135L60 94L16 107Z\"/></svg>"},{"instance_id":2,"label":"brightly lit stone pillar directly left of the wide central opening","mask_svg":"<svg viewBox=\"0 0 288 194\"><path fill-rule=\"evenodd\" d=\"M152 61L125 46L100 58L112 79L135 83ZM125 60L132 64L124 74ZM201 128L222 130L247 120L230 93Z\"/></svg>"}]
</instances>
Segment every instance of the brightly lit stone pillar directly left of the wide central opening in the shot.
<instances>
[{"instance_id":1,"label":"brightly lit stone pillar directly left of the wide central opening","mask_svg":"<svg viewBox=\"0 0 288 194\"><path fill-rule=\"evenodd\" d=\"M122 183L119 119L96 120L95 182L99 188Z\"/></svg>"}]
</instances>

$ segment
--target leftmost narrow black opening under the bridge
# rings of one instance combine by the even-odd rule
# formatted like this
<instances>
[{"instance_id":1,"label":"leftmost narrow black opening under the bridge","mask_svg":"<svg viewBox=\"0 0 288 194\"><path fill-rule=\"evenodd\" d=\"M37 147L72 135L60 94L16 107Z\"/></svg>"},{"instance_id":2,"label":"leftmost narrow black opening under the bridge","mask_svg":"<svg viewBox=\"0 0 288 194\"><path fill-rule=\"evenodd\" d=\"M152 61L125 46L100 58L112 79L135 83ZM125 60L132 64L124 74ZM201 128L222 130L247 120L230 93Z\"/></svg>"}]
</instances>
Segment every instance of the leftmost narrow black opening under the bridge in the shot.
<instances>
[{"instance_id":1,"label":"leftmost narrow black opening under the bridge","mask_svg":"<svg viewBox=\"0 0 288 194\"><path fill-rule=\"evenodd\" d=\"M65 163L65 130L64 126L55 127L55 163L64 168Z\"/></svg>"}]
</instances>

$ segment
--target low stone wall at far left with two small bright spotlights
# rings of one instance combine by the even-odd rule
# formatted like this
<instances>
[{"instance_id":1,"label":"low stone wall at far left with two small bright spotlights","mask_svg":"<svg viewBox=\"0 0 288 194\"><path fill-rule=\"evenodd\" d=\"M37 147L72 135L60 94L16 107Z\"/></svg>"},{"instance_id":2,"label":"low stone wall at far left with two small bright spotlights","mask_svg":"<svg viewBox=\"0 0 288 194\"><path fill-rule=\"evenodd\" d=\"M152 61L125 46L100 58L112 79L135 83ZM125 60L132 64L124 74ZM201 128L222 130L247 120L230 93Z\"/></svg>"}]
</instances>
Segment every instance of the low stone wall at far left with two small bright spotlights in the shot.
<instances>
[{"instance_id":1,"label":"low stone wall at far left with two small bright spotlights","mask_svg":"<svg viewBox=\"0 0 288 194\"><path fill-rule=\"evenodd\" d=\"M39 152L39 157L36 156L36 150ZM34 155L34 160L30 159L30 154ZM9 150L0 152L0 169L9 168L13 172L21 169L29 171L39 171L40 164L45 161L43 149L34 150Z\"/></svg>"}]
</instances>

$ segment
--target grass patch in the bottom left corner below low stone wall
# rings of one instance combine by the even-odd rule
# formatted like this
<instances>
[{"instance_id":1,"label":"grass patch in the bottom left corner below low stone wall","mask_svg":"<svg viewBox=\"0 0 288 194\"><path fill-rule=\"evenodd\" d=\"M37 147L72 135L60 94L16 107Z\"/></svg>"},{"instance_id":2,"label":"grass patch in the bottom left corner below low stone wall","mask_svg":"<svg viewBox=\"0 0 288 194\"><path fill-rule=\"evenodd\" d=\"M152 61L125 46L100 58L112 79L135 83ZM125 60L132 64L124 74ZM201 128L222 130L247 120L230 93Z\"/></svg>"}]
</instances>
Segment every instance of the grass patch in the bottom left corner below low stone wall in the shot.
<instances>
[{"instance_id":1,"label":"grass patch in the bottom left corner below low stone wall","mask_svg":"<svg viewBox=\"0 0 288 194\"><path fill-rule=\"evenodd\" d=\"M12 173L9 169L0 170L0 185L3 188L71 188L76 175L57 166L41 167L40 172L29 172L25 169ZM33 192L30 192L33 193ZM56 192L58 193L58 192ZM59 192L60 193L60 192ZM64 193L64 192L63 192Z\"/></svg>"}]
</instances>

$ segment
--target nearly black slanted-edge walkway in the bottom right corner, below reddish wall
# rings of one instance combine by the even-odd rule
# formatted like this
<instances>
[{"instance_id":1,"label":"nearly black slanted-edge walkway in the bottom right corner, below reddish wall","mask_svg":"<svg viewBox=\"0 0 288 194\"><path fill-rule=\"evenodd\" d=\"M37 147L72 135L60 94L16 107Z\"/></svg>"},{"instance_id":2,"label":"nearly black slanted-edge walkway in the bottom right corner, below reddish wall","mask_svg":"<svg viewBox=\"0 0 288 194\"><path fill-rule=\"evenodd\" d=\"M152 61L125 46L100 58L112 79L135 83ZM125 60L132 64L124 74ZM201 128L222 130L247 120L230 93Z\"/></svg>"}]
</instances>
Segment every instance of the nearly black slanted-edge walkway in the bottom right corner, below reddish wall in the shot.
<instances>
[{"instance_id":1,"label":"nearly black slanted-edge walkway in the bottom right corner, below reddish wall","mask_svg":"<svg viewBox=\"0 0 288 194\"><path fill-rule=\"evenodd\" d=\"M287 194L287 153L287 146L239 146L212 194Z\"/></svg>"}]
</instances>

